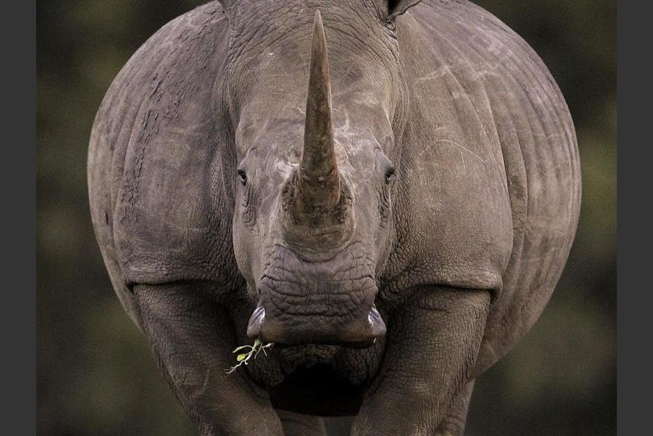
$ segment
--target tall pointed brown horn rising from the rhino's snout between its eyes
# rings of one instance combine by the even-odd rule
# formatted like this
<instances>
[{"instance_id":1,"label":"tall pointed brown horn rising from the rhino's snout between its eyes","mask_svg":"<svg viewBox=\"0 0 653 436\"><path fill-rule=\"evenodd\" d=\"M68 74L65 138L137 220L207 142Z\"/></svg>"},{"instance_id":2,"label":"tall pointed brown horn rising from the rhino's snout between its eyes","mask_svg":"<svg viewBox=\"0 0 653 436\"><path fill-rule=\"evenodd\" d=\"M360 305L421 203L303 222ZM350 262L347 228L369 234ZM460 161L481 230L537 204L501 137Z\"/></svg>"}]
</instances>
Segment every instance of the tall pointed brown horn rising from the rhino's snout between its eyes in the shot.
<instances>
[{"instance_id":1,"label":"tall pointed brown horn rising from the rhino's snout between its eyes","mask_svg":"<svg viewBox=\"0 0 653 436\"><path fill-rule=\"evenodd\" d=\"M320 10L313 21L313 45L306 98L304 149L299 164L302 209L336 207L340 196L340 173L333 148L331 78L327 38Z\"/></svg>"}]
</instances>

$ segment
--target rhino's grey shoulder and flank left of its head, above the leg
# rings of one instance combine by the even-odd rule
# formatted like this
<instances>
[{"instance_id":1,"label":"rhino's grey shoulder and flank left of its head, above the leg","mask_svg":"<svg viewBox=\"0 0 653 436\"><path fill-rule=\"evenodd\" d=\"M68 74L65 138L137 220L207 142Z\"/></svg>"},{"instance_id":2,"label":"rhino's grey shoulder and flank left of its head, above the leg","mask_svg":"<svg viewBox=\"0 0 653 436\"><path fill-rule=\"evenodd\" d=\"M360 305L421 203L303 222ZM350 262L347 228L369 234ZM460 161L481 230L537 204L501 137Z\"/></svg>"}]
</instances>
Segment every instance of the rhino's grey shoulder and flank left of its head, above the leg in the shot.
<instances>
[{"instance_id":1,"label":"rhino's grey shoulder and flank left of its head, above the leg","mask_svg":"<svg viewBox=\"0 0 653 436\"><path fill-rule=\"evenodd\" d=\"M219 3L163 26L119 72L92 131L95 221L113 226L122 280L229 280L229 31ZM104 201L101 200L104 198ZM220 277L216 277L220 275Z\"/></svg>"}]
</instances>

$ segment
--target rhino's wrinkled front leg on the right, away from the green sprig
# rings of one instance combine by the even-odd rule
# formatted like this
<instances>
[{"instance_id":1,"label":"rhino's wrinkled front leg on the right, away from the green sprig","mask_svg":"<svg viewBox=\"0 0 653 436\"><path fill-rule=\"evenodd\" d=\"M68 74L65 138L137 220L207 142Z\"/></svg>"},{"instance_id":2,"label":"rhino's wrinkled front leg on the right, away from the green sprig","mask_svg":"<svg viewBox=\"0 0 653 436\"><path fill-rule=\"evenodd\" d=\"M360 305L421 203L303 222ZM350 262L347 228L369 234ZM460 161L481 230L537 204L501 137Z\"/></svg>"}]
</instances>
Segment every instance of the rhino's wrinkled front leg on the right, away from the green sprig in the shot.
<instances>
[{"instance_id":1,"label":"rhino's wrinkled front leg on the right, away from the green sprig","mask_svg":"<svg viewBox=\"0 0 653 436\"><path fill-rule=\"evenodd\" d=\"M434 435L469 380L489 307L488 291L415 292L388 322L386 355L352 435Z\"/></svg>"}]
</instances>

